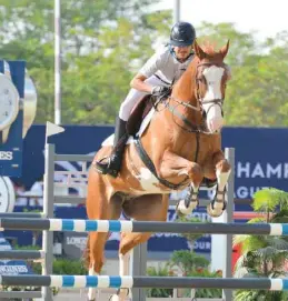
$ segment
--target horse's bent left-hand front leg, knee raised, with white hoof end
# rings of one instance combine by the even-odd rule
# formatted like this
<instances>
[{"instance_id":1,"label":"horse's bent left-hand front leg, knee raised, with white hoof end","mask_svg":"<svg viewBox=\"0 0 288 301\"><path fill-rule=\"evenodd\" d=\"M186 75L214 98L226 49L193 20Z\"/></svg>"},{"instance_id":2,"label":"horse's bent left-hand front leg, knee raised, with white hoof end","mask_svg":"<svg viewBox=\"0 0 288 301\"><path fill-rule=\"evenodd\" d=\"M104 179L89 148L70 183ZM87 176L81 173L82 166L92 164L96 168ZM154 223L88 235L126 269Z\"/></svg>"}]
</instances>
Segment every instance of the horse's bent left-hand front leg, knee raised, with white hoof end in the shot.
<instances>
[{"instance_id":1,"label":"horse's bent left-hand front leg, knee raised, with white hoof end","mask_svg":"<svg viewBox=\"0 0 288 301\"><path fill-rule=\"evenodd\" d=\"M159 175L163 179L179 183L187 177L190 182L185 200L180 200L176 211L178 214L189 214L198 205L198 192L203 179L203 172L198 163L191 162L176 153L166 151L160 164Z\"/></svg>"}]
</instances>

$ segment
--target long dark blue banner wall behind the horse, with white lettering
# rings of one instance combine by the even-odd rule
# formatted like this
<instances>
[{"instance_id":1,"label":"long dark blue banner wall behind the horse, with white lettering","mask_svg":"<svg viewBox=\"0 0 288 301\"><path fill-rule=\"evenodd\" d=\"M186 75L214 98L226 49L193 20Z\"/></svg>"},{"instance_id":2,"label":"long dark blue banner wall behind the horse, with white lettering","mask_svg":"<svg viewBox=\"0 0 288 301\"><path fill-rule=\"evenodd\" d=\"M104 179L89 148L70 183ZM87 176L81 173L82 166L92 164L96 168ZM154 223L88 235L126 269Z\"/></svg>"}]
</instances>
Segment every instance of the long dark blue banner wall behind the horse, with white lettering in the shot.
<instances>
[{"instance_id":1,"label":"long dark blue banner wall behind the horse, with white lettering","mask_svg":"<svg viewBox=\"0 0 288 301\"><path fill-rule=\"evenodd\" d=\"M57 153L66 154L95 154L100 148L101 141L113 132L113 127L80 127L64 126L64 132L49 138L50 143L54 143ZM27 208L28 202L34 204L36 201L26 201L26 191L36 194L34 191L41 191L42 188L39 179L43 175L44 170L44 140L46 126L32 126L24 139L24 161L23 174L20 179L13 179L19 189L23 191L23 197L16 201L16 204ZM200 146L201 147L201 146ZM277 128L225 128L222 132L222 148L235 148L235 197L239 199L251 199L254 193L265 187L275 187L282 190L287 189L288 180L288 129ZM32 167L32 168L31 168ZM79 171L81 162L56 162L56 170ZM62 178L61 178L62 177ZM56 181L66 181L66 175L56 175ZM41 181L41 180L40 180ZM37 185L36 185L37 184ZM34 188L36 187L36 188ZM82 195L80 189L70 189L69 193ZM37 194L38 195L38 194ZM212 192L202 191L202 197L212 198ZM28 198L29 199L29 198ZM22 209L22 210L23 210ZM251 210L249 205L236 205L236 211ZM206 208L200 208L193 213L201 220L206 221L208 215ZM58 208L56 207L54 215L60 219L85 219L85 208ZM175 219L175 212L169 210L169 220ZM9 233L8 233L9 234ZM107 250L117 250L119 241L118 234L112 234L107 243ZM17 235L19 244L31 243L31 234L27 231L19 232ZM79 244L83 248L86 237L78 237L68 233L66 243ZM61 238L64 241L63 238ZM68 249L69 247L67 247ZM171 248L191 249L197 252L210 252L210 237L203 235L190 245L186 239L179 234L155 234L149 241L148 248L155 252L169 252Z\"/></svg>"}]
</instances>

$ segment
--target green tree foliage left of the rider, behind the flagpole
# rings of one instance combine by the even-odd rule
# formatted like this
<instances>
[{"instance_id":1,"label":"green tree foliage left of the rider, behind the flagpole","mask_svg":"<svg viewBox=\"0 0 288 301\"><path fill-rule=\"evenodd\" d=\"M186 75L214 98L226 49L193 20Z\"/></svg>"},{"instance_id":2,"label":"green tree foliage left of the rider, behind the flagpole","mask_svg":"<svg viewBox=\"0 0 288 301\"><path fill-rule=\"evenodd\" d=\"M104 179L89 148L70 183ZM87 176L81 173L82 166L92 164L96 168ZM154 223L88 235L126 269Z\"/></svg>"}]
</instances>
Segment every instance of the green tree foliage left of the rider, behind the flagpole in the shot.
<instances>
[{"instance_id":1,"label":"green tree foliage left of the rider, behind the flagpole","mask_svg":"<svg viewBox=\"0 0 288 301\"><path fill-rule=\"evenodd\" d=\"M133 72L167 34L171 12L151 12L145 0L63 0L62 119L113 123ZM36 81L36 122L53 117L53 2L0 0L0 56L23 59Z\"/></svg>"}]
</instances>

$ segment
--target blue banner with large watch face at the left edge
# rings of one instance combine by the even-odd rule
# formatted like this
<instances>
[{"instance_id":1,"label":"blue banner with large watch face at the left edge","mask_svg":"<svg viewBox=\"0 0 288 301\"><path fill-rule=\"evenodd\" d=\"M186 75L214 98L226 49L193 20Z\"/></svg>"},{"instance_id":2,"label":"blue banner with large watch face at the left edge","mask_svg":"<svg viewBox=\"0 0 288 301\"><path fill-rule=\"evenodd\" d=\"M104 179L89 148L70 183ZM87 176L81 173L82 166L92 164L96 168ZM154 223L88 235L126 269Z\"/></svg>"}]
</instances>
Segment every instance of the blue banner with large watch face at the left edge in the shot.
<instances>
[{"instance_id":1,"label":"blue banner with large watch face at the left edge","mask_svg":"<svg viewBox=\"0 0 288 301\"><path fill-rule=\"evenodd\" d=\"M24 61L0 60L0 175L22 173Z\"/></svg>"}]
</instances>

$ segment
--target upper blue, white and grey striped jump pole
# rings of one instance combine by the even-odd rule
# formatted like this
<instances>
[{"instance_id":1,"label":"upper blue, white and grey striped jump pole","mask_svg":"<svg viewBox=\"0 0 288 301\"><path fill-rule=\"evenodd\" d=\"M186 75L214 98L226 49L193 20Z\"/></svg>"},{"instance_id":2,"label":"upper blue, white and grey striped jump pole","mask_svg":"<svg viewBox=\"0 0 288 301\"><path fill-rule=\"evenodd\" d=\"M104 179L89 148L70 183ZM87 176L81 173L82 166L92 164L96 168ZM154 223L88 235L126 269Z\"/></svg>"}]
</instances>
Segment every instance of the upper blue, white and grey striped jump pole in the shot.
<instances>
[{"instance_id":1,"label":"upper blue, white and grey striped jump pole","mask_svg":"<svg viewBox=\"0 0 288 301\"><path fill-rule=\"evenodd\" d=\"M288 223L178 223L118 220L0 219L2 230L73 232L158 232L288 235Z\"/></svg>"}]
</instances>

